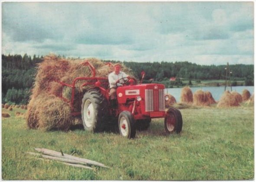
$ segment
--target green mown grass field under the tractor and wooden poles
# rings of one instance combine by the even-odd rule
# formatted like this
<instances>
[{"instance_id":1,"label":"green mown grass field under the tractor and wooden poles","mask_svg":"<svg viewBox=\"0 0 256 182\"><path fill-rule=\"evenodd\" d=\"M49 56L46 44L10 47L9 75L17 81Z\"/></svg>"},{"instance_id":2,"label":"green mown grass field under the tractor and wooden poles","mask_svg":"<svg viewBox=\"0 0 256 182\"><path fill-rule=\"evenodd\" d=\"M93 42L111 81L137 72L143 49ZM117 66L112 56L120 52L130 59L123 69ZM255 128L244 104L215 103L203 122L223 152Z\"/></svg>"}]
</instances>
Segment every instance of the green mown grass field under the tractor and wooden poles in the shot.
<instances>
[{"instance_id":1,"label":"green mown grass field under the tractor and wooden poles","mask_svg":"<svg viewBox=\"0 0 256 182\"><path fill-rule=\"evenodd\" d=\"M116 133L30 130L24 118L2 118L4 180L254 179L254 108L181 109L183 131L165 135L163 119L128 140ZM35 147L95 160L111 169L65 166L26 155Z\"/></svg>"}]
</instances>

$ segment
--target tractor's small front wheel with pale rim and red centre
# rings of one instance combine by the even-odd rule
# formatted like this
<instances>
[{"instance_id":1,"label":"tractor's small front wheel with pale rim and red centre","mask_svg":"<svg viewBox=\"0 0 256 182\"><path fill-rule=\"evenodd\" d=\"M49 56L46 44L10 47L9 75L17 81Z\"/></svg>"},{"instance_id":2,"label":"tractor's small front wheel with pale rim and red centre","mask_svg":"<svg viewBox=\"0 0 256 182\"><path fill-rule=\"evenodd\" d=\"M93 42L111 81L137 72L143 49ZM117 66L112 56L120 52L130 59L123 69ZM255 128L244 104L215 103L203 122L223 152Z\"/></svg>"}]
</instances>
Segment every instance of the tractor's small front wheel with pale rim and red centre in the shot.
<instances>
[{"instance_id":1,"label":"tractor's small front wheel with pale rim and red centre","mask_svg":"<svg viewBox=\"0 0 256 182\"><path fill-rule=\"evenodd\" d=\"M134 138L136 135L136 126L133 115L129 111L123 111L118 118L120 134L126 138Z\"/></svg>"}]
</instances>

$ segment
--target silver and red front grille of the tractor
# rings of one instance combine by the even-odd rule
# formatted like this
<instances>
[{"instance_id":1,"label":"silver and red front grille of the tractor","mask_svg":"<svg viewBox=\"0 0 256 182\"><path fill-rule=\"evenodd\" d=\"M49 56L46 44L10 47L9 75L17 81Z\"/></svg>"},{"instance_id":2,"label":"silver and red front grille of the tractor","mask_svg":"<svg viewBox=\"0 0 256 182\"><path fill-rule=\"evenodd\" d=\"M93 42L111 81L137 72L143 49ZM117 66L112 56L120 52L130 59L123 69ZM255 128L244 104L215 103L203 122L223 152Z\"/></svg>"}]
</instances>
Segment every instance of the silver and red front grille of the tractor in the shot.
<instances>
[{"instance_id":1,"label":"silver and red front grille of the tractor","mask_svg":"<svg viewBox=\"0 0 256 182\"><path fill-rule=\"evenodd\" d=\"M149 111L164 111L165 110L165 97L164 90L145 90L145 108L146 112Z\"/></svg>"}]
</instances>

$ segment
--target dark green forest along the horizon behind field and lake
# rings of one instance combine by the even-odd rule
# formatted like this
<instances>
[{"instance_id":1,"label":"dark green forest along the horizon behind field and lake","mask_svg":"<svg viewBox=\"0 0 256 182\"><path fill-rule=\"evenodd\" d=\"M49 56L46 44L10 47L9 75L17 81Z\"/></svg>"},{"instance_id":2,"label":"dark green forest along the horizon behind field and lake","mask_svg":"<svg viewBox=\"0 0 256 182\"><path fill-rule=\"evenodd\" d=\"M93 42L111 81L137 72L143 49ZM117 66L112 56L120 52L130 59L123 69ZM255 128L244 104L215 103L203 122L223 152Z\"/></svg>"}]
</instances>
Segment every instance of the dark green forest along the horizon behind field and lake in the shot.
<instances>
[{"instance_id":1,"label":"dark green forest along the horizon behind field and lake","mask_svg":"<svg viewBox=\"0 0 256 182\"><path fill-rule=\"evenodd\" d=\"M59 55L60 56L60 55ZM42 62L43 56L33 57L22 55L2 54L2 103L27 104L30 91L36 75L36 65ZM115 60L102 60L105 62L119 62ZM225 80L227 64L224 65L198 65L188 61L182 62L134 62L124 61L126 67L133 70L134 76L141 78L141 72L145 71L144 83L163 83L165 86L184 86L182 80ZM244 85L253 86L253 64L229 65L231 80L243 80ZM176 80L170 82L169 79Z\"/></svg>"}]
</instances>

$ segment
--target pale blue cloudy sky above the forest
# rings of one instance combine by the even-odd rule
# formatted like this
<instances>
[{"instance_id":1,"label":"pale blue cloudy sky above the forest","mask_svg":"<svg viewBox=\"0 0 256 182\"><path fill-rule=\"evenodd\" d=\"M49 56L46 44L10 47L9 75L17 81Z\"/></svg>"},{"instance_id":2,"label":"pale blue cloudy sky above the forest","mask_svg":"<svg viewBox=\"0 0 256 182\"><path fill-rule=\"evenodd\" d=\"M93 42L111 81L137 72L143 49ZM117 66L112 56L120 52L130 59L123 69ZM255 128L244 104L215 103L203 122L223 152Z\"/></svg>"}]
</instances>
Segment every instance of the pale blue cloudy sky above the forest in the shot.
<instances>
[{"instance_id":1,"label":"pale blue cloudy sky above the forest","mask_svg":"<svg viewBox=\"0 0 256 182\"><path fill-rule=\"evenodd\" d=\"M3 2L2 54L254 64L253 2Z\"/></svg>"}]
</instances>

